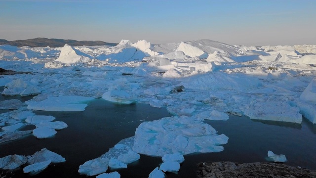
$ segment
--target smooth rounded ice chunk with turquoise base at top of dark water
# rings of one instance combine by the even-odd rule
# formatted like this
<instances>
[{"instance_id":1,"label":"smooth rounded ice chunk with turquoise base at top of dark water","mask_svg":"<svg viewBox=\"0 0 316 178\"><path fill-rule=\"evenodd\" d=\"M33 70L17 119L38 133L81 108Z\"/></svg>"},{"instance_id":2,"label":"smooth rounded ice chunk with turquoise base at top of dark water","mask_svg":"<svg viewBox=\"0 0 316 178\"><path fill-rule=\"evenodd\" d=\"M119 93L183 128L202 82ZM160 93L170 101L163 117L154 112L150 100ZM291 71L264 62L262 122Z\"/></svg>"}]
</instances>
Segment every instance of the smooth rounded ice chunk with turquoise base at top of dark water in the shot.
<instances>
[{"instance_id":1,"label":"smooth rounded ice chunk with turquoise base at top of dark water","mask_svg":"<svg viewBox=\"0 0 316 178\"><path fill-rule=\"evenodd\" d=\"M119 89L111 89L103 93L102 98L120 104L131 104L136 102L136 99L133 95Z\"/></svg>"}]
</instances>

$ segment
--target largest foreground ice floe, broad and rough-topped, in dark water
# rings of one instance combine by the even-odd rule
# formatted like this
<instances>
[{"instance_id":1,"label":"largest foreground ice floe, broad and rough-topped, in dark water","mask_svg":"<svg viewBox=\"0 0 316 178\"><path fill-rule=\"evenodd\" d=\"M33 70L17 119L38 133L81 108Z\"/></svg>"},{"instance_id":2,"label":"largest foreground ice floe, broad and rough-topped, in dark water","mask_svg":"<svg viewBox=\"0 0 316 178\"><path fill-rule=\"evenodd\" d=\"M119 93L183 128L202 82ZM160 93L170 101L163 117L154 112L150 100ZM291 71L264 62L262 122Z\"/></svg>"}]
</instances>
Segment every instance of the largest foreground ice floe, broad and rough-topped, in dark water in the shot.
<instances>
[{"instance_id":1,"label":"largest foreground ice floe, broad and rough-topped, in dark water","mask_svg":"<svg viewBox=\"0 0 316 178\"><path fill-rule=\"evenodd\" d=\"M143 122L136 129L133 150L137 153L165 154L220 152L228 137L217 135L210 125L187 116Z\"/></svg>"}]
</instances>

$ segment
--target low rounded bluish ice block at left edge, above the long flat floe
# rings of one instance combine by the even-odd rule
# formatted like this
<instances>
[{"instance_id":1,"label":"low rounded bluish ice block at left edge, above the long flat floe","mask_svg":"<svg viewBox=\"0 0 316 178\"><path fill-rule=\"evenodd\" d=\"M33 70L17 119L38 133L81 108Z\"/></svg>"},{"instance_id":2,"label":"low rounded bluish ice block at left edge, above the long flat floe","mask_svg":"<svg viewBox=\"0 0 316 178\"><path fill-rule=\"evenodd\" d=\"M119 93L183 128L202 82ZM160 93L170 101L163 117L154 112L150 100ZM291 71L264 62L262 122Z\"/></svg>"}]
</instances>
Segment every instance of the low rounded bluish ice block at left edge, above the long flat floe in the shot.
<instances>
[{"instance_id":1,"label":"low rounded bluish ice block at left edge, above the long flat floe","mask_svg":"<svg viewBox=\"0 0 316 178\"><path fill-rule=\"evenodd\" d=\"M34 86L31 82L24 82L22 79L16 79L4 86L4 90L2 91L3 95L14 96L28 96L28 95L36 95L40 94L40 89Z\"/></svg>"}]
</instances>

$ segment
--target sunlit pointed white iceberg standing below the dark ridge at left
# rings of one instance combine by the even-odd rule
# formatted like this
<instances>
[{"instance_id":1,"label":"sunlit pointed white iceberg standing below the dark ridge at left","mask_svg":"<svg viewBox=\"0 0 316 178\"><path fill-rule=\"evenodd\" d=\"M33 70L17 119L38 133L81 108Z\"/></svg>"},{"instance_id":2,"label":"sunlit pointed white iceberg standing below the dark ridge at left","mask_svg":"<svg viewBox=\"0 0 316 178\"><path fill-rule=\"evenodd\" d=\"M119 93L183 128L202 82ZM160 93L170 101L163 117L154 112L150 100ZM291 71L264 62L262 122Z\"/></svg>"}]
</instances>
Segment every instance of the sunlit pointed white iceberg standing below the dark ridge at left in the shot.
<instances>
[{"instance_id":1,"label":"sunlit pointed white iceberg standing below the dark ridge at left","mask_svg":"<svg viewBox=\"0 0 316 178\"><path fill-rule=\"evenodd\" d=\"M73 46L64 45L61 48L60 55L55 61L62 62L65 64L73 64L76 62L86 63L91 61L92 57L88 54L85 54L78 49L75 49Z\"/></svg>"}]
</instances>

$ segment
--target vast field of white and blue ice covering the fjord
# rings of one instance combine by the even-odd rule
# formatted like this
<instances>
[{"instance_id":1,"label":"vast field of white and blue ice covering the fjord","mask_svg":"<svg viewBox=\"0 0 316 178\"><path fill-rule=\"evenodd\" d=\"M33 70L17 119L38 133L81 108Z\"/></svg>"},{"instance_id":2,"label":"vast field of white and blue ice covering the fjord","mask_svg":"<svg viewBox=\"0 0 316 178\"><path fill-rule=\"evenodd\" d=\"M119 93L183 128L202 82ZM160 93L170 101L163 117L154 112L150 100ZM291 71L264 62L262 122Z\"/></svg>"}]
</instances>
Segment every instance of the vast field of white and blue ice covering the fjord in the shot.
<instances>
[{"instance_id":1,"label":"vast field of white and blue ice covering the fjord","mask_svg":"<svg viewBox=\"0 0 316 178\"><path fill-rule=\"evenodd\" d=\"M1 144L28 135L52 139L71 126L45 113L71 116L85 111L96 99L124 107L150 104L172 115L142 120L134 135L80 163L78 175L118 178L121 169L128 170L146 155L162 158L148 177L169 177L181 172L186 162L183 155L222 152L229 147L230 136L225 129L218 132L212 123L225 125L230 117L247 116L292 128L315 128L316 124L316 45L259 47L211 40L162 45L122 40L117 46L54 48L0 45L0 68L28 72L0 75ZM96 114L107 115L106 110ZM20 167L36 174L58 163L56 157L63 158L41 149L34 151L39 159L2 157L0 168ZM291 156L278 154L283 152L269 149L272 160L268 161L287 158L291 163Z\"/></svg>"}]
</instances>

